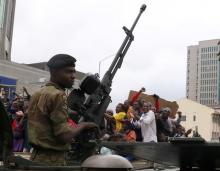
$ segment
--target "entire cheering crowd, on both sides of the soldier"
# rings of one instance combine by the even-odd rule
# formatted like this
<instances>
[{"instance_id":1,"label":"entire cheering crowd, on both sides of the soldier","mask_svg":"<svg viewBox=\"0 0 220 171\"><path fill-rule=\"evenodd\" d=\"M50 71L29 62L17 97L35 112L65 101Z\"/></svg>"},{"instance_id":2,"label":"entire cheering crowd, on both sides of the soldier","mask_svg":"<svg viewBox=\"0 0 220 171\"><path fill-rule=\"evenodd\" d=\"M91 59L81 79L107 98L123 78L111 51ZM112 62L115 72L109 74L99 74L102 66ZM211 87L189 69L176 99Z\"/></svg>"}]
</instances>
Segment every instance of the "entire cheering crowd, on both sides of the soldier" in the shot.
<instances>
[{"instance_id":1,"label":"entire cheering crowd, on both sides of the soldier","mask_svg":"<svg viewBox=\"0 0 220 171\"><path fill-rule=\"evenodd\" d=\"M145 89L142 88L130 101L125 100L113 110L104 114L102 139L127 142L165 142L168 137L188 137L191 129L185 131L180 124L182 114L177 112L177 118L171 118L169 107L160 108L159 96L153 95L155 103L140 99L139 96ZM2 102L8 112L14 135L14 152L28 152L28 103L31 98L27 89L23 88L23 95L14 93L15 98L10 102L7 96L2 96ZM68 120L69 124L76 127L74 119Z\"/></svg>"}]
</instances>

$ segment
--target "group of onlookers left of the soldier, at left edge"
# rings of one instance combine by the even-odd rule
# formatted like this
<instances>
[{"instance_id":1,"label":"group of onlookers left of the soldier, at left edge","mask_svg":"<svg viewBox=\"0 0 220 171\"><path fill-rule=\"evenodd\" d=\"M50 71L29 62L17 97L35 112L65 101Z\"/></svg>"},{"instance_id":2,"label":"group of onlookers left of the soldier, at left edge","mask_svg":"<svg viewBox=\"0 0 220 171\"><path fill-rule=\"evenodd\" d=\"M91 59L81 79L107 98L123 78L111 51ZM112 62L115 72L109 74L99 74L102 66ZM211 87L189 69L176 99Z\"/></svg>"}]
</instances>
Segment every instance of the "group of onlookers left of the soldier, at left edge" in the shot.
<instances>
[{"instance_id":1,"label":"group of onlookers left of the soldier, at left edge","mask_svg":"<svg viewBox=\"0 0 220 171\"><path fill-rule=\"evenodd\" d=\"M1 101L8 113L13 131L13 151L27 152L30 150L28 143L27 109L31 96L25 87L23 87L22 95L14 92L14 98L11 101L8 98L8 92L2 92Z\"/></svg>"}]
</instances>

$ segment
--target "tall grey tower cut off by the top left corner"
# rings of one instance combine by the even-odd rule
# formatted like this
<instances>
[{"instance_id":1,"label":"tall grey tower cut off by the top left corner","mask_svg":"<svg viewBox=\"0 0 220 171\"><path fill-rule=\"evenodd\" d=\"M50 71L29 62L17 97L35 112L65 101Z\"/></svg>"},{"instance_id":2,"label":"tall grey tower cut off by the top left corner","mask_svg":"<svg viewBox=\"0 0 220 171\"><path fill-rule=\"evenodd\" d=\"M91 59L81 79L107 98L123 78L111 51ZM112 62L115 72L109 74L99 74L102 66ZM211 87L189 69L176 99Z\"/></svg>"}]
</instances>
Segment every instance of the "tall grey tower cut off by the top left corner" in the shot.
<instances>
[{"instance_id":1,"label":"tall grey tower cut off by the top left corner","mask_svg":"<svg viewBox=\"0 0 220 171\"><path fill-rule=\"evenodd\" d=\"M0 59L11 61L16 0L0 0Z\"/></svg>"}]
</instances>

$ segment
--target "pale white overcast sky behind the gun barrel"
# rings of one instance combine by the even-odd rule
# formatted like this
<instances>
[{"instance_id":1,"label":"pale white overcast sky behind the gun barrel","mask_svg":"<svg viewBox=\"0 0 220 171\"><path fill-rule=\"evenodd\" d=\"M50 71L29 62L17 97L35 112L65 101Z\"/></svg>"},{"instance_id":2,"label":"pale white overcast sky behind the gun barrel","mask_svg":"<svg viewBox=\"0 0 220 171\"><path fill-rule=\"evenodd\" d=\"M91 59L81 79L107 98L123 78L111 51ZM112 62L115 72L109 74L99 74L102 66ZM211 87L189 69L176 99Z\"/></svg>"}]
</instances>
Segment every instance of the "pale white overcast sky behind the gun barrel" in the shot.
<instances>
[{"instance_id":1,"label":"pale white overcast sky behind the gun barrel","mask_svg":"<svg viewBox=\"0 0 220 171\"><path fill-rule=\"evenodd\" d=\"M143 86L168 100L185 97L187 46L220 38L219 0L17 0L12 60L43 62L67 53L77 70L97 73L143 3L147 9L113 81L113 105ZM101 77L112 60L101 62Z\"/></svg>"}]
</instances>

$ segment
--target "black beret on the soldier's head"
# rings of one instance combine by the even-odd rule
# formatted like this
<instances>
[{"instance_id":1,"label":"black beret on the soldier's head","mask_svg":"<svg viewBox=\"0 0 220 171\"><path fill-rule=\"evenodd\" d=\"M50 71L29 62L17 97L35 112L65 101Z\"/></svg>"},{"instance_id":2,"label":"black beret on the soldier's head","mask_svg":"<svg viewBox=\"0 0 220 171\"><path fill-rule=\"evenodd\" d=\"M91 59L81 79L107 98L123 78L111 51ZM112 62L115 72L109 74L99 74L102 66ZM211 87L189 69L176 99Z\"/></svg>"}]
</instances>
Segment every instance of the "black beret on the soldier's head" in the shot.
<instances>
[{"instance_id":1,"label":"black beret on the soldier's head","mask_svg":"<svg viewBox=\"0 0 220 171\"><path fill-rule=\"evenodd\" d=\"M76 59L67 54L57 54L53 56L48 62L49 69L61 69L64 67L75 67Z\"/></svg>"}]
</instances>

